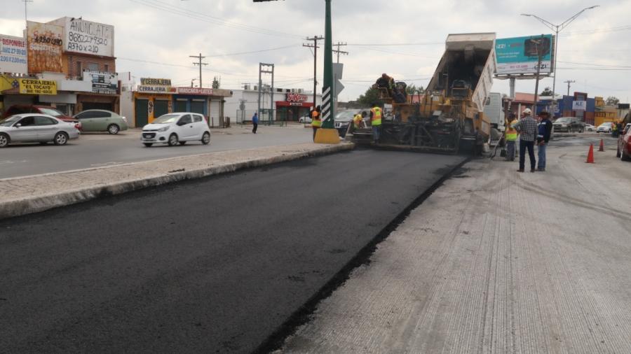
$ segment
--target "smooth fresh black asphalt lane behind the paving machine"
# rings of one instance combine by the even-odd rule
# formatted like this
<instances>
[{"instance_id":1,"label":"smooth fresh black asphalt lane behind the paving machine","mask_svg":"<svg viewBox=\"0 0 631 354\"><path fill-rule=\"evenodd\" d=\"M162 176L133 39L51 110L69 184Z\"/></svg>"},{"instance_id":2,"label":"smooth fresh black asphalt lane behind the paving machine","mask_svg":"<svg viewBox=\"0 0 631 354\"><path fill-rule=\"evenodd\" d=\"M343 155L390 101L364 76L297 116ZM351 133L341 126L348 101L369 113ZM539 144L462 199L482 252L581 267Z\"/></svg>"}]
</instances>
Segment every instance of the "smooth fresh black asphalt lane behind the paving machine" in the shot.
<instances>
[{"instance_id":1,"label":"smooth fresh black asphalt lane behind the paving machine","mask_svg":"<svg viewBox=\"0 0 631 354\"><path fill-rule=\"evenodd\" d=\"M0 221L0 353L247 353L463 157L356 150Z\"/></svg>"}]
</instances>

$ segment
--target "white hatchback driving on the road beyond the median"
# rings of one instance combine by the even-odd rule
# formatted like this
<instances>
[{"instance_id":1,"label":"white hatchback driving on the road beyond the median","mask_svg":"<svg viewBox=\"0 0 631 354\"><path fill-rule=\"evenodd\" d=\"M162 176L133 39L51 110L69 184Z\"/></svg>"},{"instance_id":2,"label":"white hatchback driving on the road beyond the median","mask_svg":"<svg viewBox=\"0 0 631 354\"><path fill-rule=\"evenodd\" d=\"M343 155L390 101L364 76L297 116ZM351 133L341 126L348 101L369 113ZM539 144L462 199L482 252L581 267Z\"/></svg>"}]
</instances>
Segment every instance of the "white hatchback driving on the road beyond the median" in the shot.
<instances>
[{"instance_id":1,"label":"white hatchback driving on the road beyond the median","mask_svg":"<svg viewBox=\"0 0 631 354\"><path fill-rule=\"evenodd\" d=\"M210 143L210 129L204 116L197 113L168 113L142 127L140 141L149 148L154 143L169 146L184 145L187 141Z\"/></svg>"}]
</instances>

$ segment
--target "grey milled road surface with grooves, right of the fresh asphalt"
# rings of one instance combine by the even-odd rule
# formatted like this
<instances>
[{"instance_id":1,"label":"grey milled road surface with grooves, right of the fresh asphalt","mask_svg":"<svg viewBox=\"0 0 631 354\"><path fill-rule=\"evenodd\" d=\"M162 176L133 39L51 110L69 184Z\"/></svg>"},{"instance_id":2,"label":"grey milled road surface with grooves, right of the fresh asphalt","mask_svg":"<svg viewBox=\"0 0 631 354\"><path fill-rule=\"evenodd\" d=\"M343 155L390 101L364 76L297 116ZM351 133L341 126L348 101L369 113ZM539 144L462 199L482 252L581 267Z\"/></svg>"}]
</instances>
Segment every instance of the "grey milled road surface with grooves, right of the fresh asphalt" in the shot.
<instances>
[{"instance_id":1,"label":"grey milled road surface with grooves, right of the fresh asphalt","mask_svg":"<svg viewBox=\"0 0 631 354\"><path fill-rule=\"evenodd\" d=\"M287 353L631 353L631 163L474 160L355 269Z\"/></svg>"}]
</instances>

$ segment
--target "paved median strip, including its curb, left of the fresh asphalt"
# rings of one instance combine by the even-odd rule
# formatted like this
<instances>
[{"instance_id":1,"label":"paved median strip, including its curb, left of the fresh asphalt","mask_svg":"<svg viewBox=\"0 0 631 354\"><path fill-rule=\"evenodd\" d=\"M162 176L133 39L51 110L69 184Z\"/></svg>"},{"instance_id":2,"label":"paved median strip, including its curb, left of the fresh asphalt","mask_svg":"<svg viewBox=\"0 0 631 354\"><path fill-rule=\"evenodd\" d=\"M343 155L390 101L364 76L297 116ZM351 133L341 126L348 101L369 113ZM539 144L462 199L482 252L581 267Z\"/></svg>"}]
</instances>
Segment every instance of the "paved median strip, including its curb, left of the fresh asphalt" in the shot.
<instances>
[{"instance_id":1,"label":"paved median strip, including its curb, left of the fresh asphalt","mask_svg":"<svg viewBox=\"0 0 631 354\"><path fill-rule=\"evenodd\" d=\"M351 150L353 144L302 143L230 150L0 180L0 219L191 178Z\"/></svg>"}]
</instances>

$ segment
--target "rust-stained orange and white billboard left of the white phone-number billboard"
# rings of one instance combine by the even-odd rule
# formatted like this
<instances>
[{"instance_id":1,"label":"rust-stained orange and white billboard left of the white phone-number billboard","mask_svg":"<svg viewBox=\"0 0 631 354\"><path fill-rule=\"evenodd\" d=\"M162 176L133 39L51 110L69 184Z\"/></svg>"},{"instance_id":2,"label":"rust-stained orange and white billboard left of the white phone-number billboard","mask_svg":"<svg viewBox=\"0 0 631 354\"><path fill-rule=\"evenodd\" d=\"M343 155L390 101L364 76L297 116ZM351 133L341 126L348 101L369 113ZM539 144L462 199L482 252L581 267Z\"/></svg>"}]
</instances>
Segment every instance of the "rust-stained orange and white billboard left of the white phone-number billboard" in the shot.
<instances>
[{"instance_id":1,"label":"rust-stained orange and white billboard left of the white phone-number billboard","mask_svg":"<svg viewBox=\"0 0 631 354\"><path fill-rule=\"evenodd\" d=\"M64 28L55 24L27 22L29 73L62 72Z\"/></svg>"}]
</instances>

